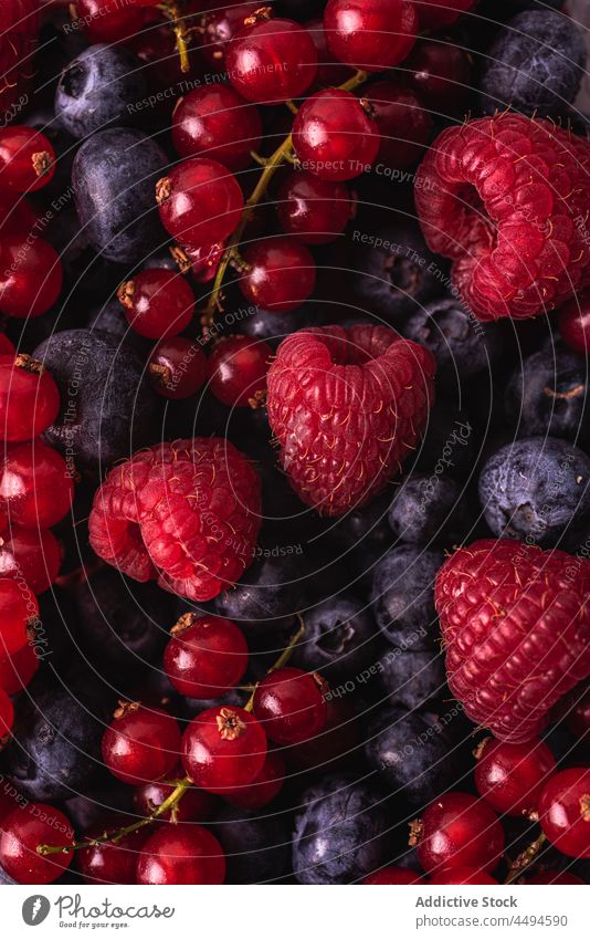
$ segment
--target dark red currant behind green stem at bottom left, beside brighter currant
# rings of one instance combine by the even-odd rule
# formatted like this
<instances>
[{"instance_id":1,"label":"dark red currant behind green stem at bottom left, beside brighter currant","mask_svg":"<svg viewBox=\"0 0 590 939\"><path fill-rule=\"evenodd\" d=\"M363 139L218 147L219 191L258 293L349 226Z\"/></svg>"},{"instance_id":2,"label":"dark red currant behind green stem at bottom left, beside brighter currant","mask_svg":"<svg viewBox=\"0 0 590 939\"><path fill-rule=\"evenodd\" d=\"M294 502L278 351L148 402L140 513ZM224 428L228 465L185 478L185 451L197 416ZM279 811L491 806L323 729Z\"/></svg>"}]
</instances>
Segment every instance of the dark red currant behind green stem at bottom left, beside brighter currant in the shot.
<instances>
[{"instance_id":1,"label":"dark red currant behind green stem at bottom left, beside brighter currant","mask_svg":"<svg viewBox=\"0 0 590 939\"><path fill-rule=\"evenodd\" d=\"M84 839L115 834L133 824L125 815L108 815L84 833ZM139 852L149 838L148 826L137 828L116 842L101 842L76 852L77 868L88 884L135 884Z\"/></svg>"}]
</instances>

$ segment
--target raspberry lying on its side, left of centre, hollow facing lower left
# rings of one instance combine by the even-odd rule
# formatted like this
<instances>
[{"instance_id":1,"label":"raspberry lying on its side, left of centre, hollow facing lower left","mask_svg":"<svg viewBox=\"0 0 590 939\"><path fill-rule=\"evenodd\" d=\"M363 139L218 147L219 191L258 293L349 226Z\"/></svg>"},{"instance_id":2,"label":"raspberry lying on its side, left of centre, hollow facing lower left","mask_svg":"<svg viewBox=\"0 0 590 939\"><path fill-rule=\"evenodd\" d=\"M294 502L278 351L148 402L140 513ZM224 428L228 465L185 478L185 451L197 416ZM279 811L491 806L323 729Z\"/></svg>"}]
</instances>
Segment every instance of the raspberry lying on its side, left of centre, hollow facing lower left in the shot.
<instances>
[{"instance_id":1,"label":"raspberry lying on its side, left of centre, hollow facing lower left","mask_svg":"<svg viewBox=\"0 0 590 939\"><path fill-rule=\"evenodd\" d=\"M136 581L212 599L252 561L260 492L257 473L226 440L158 444L108 473L94 497L91 545Z\"/></svg>"}]
</instances>

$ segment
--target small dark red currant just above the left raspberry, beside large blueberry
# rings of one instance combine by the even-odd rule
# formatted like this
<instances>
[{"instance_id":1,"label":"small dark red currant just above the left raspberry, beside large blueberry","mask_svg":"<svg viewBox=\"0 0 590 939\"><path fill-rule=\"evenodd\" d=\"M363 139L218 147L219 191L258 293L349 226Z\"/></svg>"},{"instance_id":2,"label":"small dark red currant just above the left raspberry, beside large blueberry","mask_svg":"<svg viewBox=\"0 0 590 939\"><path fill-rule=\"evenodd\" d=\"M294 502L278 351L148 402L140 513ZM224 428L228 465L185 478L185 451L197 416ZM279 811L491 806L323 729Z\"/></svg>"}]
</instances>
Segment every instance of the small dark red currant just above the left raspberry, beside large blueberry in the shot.
<instances>
[{"instance_id":1,"label":"small dark red currant just above the left raspberry, beside large blueberry","mask_svg":"<svg viewBox=\"0 0 590 939\"><path fill-rule=\"evenodd\" d=\"M199 343L171 336L158 343L149 356L148 374L162 397L190 398L207 378L207 357Z\"/></svg>"}]
</instances>

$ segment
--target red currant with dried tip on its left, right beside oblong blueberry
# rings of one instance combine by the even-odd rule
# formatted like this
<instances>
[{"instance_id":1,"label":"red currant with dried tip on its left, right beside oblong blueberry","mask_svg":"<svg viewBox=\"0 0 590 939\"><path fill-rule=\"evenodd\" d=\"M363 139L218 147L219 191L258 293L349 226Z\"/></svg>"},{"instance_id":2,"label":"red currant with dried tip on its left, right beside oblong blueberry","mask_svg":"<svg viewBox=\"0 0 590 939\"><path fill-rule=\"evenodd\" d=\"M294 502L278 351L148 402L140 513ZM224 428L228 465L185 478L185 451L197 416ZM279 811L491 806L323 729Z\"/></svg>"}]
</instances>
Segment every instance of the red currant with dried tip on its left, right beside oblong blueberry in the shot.
<instances>
[{"instance_id":1,"label":"red currant with dried tip on its left, right beside oblong blueberry","mask_svg":"<svg viewBox=\"0 0 590 939\"><path fill-rule=\"evenodd\" d=\"M191 157L156 184L165 229L181 244L199 247L223 241L238 226L244 207L242 190L226 167Z\"/></svg>"}]
</instances>

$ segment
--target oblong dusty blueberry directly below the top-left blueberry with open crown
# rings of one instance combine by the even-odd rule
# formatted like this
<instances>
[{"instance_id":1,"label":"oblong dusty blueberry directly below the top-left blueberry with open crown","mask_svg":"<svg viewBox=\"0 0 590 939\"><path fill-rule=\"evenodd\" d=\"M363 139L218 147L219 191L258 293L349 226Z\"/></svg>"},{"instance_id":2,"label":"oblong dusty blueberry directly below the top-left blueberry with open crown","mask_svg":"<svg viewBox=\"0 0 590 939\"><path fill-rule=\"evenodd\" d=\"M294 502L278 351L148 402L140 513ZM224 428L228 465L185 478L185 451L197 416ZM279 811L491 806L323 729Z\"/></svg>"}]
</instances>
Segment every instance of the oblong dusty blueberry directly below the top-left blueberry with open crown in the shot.
<instances>
[{"instance_id":1,"label":"oblong dusty blueberry directly below the top-left blueberry with open crown","mask_svg":"<svg viewBox=\"0 0 590 939\"><path fill-rule=\"evenodd\" d=\"M154 186L167 158L141 131L99 131L82 144L72 168L80 223L104 258L140 261L165 239Z\"/></svg>"}]
</instances>

